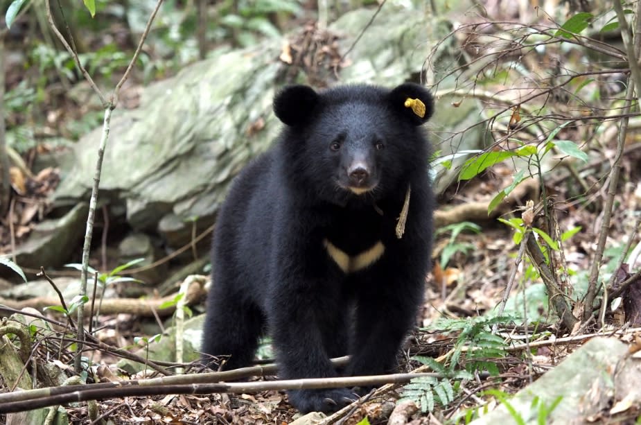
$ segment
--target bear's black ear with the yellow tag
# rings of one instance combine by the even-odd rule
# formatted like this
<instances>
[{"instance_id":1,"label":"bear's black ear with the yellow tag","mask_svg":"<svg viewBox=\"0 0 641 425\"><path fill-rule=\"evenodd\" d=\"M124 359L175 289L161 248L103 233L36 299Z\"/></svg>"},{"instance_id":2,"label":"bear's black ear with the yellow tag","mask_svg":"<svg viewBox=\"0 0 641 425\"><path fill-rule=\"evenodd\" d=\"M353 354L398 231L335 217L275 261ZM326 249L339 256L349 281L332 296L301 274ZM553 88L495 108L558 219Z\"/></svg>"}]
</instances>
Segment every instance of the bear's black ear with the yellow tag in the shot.
<instances>
[{"instance_id":1,"label":"bear's black ear with the yellow tag","mask_svg":"<svg viewBox=\"0 0 641 425\"><path fill-rule=\"evenodd\" d=\"M401 84L389 92L392 108L407 117L414 125L428 122L434 113L434 98L425 87L414 84Z\"/></svg>"}]
</instances>

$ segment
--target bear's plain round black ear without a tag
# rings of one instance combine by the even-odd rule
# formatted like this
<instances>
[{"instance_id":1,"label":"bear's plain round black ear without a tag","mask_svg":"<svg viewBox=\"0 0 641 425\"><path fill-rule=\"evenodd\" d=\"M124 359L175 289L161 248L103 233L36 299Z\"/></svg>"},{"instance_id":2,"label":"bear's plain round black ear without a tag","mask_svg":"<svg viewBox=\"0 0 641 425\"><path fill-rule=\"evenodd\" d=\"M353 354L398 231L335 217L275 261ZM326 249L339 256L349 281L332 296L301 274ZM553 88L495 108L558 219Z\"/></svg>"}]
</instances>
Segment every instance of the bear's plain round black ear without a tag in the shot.
<instances>
[{"instance_id":1,"label":"bear's plain round black ear without a tag","mask_svg":"<svg viewBox=\"0 0 641 425\"><path fill-rule=\"evenodd\" d=\"M319 101L312 87L290 85L274 97L274 114L287 125L302 125L307 122Z\"/></svg>"}]
</instances>

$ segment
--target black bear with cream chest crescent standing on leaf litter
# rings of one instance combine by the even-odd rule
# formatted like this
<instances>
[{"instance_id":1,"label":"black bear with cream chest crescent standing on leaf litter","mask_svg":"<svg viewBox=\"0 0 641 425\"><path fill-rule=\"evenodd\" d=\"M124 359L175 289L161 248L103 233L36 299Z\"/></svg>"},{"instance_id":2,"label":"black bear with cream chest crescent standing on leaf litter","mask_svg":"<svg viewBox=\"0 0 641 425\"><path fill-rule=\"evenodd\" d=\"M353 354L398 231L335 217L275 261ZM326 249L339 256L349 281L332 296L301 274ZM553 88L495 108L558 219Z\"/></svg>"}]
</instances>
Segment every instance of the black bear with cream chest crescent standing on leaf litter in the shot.
<instances>
[{"instance_id":1,"label":"black bear with cream chest crescent standing on leaf litter","mask_svg":"<svg viewBox=\"0 0 641 425\"><path fill-rule=\"evenodd\" d=\"M282 379L383 374L423 301L433 199L430 146L419 128L427 89L286 87L286 125L236 178L218 215L202 352L249 365L272 337ZM346 388L292 390L301 410L337 410Z\"/></svg>"}]
</instances>

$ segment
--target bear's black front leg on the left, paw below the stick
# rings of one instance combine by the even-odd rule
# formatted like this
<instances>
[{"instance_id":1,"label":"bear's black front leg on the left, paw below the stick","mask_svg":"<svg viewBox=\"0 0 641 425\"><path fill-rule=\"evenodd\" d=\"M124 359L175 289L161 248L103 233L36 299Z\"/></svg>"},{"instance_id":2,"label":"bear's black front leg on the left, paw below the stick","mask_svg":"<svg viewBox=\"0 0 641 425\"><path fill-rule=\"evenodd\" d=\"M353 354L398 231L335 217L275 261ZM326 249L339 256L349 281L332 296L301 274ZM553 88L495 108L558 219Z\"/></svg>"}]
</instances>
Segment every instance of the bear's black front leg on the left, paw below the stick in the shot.
<instances>
[{"instance_id":1,"label":"bear's black front leg on the left, paw below the stick","mask_svg":"<svg viewBox=\"0 0 641 425\"><path fill-rule=\"evenodd\" d=\"M337 376L329 355L344 350L346 345L346 302L338 286L328 286L324 279L296 275L281 275L270 300L268 315L279 376ZM358 398L346 388L290 390L288 395L292 406L302 413L333 412Z\"/></svg>"}]
</instances>

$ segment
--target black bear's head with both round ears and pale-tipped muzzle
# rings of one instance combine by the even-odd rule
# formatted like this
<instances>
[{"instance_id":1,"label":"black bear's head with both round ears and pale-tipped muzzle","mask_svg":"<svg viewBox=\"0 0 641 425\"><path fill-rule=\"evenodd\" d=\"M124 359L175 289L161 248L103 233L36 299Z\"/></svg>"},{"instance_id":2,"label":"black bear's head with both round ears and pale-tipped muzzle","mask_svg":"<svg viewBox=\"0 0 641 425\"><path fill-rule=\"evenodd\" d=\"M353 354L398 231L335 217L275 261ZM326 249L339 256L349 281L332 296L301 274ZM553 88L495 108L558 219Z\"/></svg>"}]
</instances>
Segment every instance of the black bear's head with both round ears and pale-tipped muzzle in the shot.
<instances>
[{"instance_id":1,"label":"black bear's head with both round ears and pale-tipped muzzle","mask_svg":"<svg viewBox=\"0 0 641 425\"><path fill-rule=\"evenodd\" d=\"M430 150L419 126L434 104L420 85L346 85L322 92L292 85L276 95L274 112L287 125L281 152L288 181L319 200L378 200L391 191L404 194L415 173L428 178Z\"/></svg>"}]
</instances>

